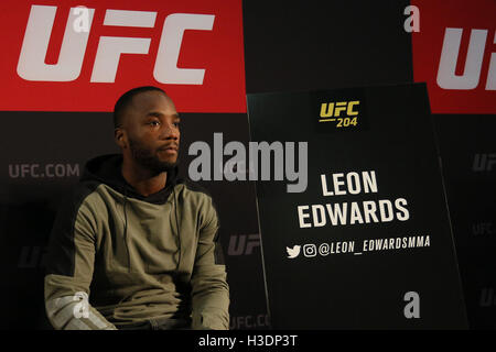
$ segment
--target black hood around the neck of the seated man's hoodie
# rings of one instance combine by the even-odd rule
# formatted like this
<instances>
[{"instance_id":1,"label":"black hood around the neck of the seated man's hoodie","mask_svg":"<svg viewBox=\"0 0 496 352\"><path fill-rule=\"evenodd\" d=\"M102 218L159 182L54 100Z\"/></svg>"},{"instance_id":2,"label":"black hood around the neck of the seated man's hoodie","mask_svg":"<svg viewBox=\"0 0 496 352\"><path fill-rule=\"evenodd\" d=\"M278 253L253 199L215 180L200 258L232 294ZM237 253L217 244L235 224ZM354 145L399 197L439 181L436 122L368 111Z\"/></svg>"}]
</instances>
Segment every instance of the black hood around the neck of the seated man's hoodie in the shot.
<instances>
[{"instance_id":1,"label":"black hood around the neck of the seated man's hoodie","mask_svg":"<svg viewBox=\"0 0 496 352\"><path fill-rule=\"evenodd\" d=\"M177 166L169 170L165 187L158 193L144 197L139 194L122 176L122 154L106 154L89 160L79 182L97 182L109 186L129 198L137 198L151 204L166 202L172 188L182 183L177 179Z\"/></svg>"}]
</instances>

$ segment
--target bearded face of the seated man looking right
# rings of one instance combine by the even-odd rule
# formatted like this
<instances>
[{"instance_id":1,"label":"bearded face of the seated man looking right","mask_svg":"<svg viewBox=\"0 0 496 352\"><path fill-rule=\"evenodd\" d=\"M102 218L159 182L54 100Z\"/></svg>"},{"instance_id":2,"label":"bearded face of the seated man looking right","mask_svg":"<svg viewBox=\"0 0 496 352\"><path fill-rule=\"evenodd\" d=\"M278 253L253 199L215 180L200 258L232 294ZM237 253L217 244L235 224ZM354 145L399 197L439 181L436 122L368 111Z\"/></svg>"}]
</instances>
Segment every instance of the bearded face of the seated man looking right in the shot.
<instances>
[{"instance_id":1,"label":"bearded face of the seated man looking right","mask_svg":"<svg viewBox=\"0 0 496 352\"><path fill-rule=\"evenodd\" d=\"M180 144L179 123L171 98L160 91L134 96L125 119L134 162L157 174L174 167Z\"/></svg>"}]
</instances>

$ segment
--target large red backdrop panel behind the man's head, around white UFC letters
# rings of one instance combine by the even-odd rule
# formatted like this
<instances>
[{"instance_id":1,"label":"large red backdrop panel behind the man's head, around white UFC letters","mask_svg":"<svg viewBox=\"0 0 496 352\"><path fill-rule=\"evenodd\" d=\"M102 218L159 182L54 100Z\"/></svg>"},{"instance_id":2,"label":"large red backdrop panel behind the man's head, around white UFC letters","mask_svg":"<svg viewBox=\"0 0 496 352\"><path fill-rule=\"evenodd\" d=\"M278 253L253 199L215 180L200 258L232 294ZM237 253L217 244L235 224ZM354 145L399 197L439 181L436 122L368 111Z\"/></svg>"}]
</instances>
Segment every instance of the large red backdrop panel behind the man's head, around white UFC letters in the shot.
<instances>
[{"instance_id":1,"label":"large red backdrop panel behind the man's head, around white UFC letters","mask_svg":"<svg viewBox=\"0 0 496 352\"><path fill-rule=\"evenodd\" d=\"M57 64L71 8L95 9L79 75L69 81L23 79L18 63L32 6L56 7L45 64ZM104 25L106 11L157 12L152 28ZM212 30L186 30L177 68L205 69L202 84L162 84L154 78L159 44L168 15L215 15ZM163 88L181 112L246 112L241 0L98 0L0 2L0 110L111 111L127 89L142 85ZM48 20L46 20L48 21ZM90 81L101 36L150 38L148 54L122 54L115 81Z\"/></svg>"}]
</instances>

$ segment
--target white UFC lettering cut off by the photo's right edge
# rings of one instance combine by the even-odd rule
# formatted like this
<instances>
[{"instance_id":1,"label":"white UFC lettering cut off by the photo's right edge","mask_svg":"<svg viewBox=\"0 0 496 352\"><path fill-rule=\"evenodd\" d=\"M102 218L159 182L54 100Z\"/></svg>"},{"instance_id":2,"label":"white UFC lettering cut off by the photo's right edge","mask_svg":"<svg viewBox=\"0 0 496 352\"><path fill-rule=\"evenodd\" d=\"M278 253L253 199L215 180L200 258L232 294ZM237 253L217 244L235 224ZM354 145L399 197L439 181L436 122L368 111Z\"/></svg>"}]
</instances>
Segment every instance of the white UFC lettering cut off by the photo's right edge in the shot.
<instances>
[{"instance_id":1,"label":"white UFC lettering cut off by the photo's right edge","mask_svg":"<svg viewBox=\"0 0 496 352\"><path fill-rule=\"evenodd\" d=\"M446 28L438 69L438 85L443 89L475 89L481 79L487 30L472 30L463 75L455 75L463 29ZM496 44L496 33L493 38ZM496 53L490 54L486 90L496 90Z\"/></svg>"}]
</instances>

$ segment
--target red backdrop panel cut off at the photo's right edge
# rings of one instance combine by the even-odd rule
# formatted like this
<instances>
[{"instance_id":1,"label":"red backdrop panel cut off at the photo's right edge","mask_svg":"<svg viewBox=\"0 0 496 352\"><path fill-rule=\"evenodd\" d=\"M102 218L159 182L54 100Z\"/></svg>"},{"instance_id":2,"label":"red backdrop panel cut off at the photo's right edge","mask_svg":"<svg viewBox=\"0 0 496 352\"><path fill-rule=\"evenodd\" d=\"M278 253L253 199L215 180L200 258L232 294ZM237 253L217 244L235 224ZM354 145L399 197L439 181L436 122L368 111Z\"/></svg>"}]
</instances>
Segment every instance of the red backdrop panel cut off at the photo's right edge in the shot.
<instances>
[{"instance_id":1,"label":"red backdrop panel cut off at the photo's right edge","mask_svg":"<svg viewBox=\"0 0 496 352\"><path fill-rule=\"evenodd\" d=\"M496 82L496 1L411 0L411 4L420 10L420 32L412 33L413 77L414 81L427 81L432 112L496 113L496 87L487 87L490 79ZM449 32L446 29L453 29L450 30L452 32L462 30L459 47L453 40L446 41L444 45L446 58L456 57L457 53L456 65L449 65L448 61L441 63L443 43ZM470 45L475 52L477 45L475 38L471 40L472 30L485 31L485 42L479 41L483 54L475 55L467 63ZM448 55L450 51L452 55ZM479 65L479 69L465 73L465 68L471 65ZM439 75L442 68L453 73L444 74L444 77L455 78L451 81L444 79L443 84L443 77L439 77L443 76ZM464 74L464 82L453 82L456 76L463 77ZM475 87L470 87L467 80L475 81Z\"/></svg>"}]
</instances>

